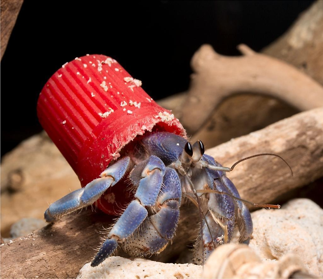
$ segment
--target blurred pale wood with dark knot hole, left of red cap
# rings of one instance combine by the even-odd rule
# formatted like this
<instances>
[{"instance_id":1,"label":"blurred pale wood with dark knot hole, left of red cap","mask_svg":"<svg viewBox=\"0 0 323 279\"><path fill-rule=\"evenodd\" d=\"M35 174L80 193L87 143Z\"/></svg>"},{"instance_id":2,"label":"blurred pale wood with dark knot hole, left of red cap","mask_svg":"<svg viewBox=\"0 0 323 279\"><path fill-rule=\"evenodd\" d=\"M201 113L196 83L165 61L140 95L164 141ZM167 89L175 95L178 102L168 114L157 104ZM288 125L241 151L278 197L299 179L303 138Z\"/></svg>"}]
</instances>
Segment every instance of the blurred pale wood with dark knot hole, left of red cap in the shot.
<instances>
[{"instance_id":1,"label":"blurred pale wood with dark knot hole, left of red cap","mask_svg":"<svg viewBox=\"0 0 323 279\"><path fill-rule=\"evenodd\" d=\"M48 205L80 181L45 132L23 141L1 158L1 235L10 237L22 218L43 219Z\"/></svg>"}]
</instances>

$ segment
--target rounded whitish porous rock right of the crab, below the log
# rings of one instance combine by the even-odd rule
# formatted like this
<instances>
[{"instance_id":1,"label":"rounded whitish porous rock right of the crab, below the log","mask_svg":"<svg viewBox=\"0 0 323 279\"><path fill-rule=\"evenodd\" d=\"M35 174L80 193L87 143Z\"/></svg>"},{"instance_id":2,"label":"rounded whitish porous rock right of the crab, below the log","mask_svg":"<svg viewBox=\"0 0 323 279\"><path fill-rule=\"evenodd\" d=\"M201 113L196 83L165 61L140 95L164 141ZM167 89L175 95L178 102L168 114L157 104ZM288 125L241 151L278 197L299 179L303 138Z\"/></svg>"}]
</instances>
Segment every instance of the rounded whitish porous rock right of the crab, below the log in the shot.
<instances>
[{"instance_id":1,"label":"rounded whitish porous rock right of the crab, below the log","mask_svg":"<svg viewBox=\"0 0 323 279\"><path fill-rule=\"evenodd\" d=\"M279 210L252 213L249 246L263 259L292 253L314 275L323 277L323 209L310 199L294 199Z\"/></svg>"}]
</instances>

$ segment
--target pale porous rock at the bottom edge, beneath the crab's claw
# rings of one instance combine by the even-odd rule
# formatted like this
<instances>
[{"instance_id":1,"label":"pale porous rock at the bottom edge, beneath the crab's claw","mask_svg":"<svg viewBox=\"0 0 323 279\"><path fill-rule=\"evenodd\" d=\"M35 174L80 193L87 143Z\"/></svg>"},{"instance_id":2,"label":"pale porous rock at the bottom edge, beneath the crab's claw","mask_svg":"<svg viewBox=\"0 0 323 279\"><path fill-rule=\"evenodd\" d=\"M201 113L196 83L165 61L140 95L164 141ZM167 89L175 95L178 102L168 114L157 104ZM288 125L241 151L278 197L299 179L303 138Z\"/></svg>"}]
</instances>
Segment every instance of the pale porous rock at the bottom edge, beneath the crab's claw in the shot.
<instances>
[{"instance_id":1,"label":"pale porous rock at the bottom edge, beneath the crab's claw","mask_svg":"<svg viewBox=\"0 0 323 279\"><path fill-rule=\"evenodd\" d=\"M112 256L97 267L85 264L77 277L81 278L200 278L202 266L194 264L161 263L147 259L134 260Z\"/></svg>"}]
</instances>

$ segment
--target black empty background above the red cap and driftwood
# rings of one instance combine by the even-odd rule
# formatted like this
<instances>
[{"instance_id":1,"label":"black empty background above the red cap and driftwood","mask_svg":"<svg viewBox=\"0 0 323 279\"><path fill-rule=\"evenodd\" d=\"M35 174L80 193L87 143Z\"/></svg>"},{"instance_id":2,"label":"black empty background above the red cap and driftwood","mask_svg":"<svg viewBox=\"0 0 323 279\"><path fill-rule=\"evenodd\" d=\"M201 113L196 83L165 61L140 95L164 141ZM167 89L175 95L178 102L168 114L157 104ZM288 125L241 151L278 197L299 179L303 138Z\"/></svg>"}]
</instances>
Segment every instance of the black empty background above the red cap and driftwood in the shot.
<instances>
[{"instance_id":1,"label":"black empty background above the red cap and driftwood","mask_svg":"<svg viewBox=\"0 0 323 279\"><path fill-rule=\"evenodd\" d=\"M1 156L42 130L38 94L76 56L112 56L158 100L188 89L202 44L260 51L312 2L25 0L1 61Z\"/></svg>"}]
</instances>

